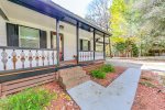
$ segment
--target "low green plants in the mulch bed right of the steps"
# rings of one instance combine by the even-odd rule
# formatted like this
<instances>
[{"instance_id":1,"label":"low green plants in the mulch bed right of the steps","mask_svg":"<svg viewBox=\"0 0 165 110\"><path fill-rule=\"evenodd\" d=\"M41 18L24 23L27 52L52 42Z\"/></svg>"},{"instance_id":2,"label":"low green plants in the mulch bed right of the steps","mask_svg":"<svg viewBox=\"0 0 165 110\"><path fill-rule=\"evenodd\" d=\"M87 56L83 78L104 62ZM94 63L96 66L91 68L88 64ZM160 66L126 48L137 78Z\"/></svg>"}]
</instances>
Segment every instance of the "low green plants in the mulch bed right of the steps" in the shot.
<instances>
[{"instance_id":1,"label":"low green plants in the mulch bed right of the steps","mask_svg":"<svg viewBox=\"0 0 165 110\"><path fill-rule=\"evenodd\" d=\"M91 70L91 76L99 79L105 79L106 74L114 72L114 67L112 65L103 65L96 70Z\"/></svg>"}]
</instances>

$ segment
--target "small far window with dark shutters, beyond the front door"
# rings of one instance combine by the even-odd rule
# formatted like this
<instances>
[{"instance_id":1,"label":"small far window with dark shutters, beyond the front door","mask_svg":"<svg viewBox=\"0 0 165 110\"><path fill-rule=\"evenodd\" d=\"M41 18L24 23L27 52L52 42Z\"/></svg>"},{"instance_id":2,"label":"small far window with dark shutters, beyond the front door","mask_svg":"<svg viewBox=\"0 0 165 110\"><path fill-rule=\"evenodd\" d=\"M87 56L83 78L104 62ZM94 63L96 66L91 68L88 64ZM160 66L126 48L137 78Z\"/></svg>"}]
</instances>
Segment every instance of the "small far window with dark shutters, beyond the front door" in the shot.
<instances>
[{"instance_id":1,"label":"small far window with dark shutters, beyond the front door","mask_svg":"<svg viewBox=\"0 0 165 110\"><path fill-rule=\"evenodd\" d=\"M80 40L80 51L90 51L90 41Z\"/></svg>"}]
</instances>

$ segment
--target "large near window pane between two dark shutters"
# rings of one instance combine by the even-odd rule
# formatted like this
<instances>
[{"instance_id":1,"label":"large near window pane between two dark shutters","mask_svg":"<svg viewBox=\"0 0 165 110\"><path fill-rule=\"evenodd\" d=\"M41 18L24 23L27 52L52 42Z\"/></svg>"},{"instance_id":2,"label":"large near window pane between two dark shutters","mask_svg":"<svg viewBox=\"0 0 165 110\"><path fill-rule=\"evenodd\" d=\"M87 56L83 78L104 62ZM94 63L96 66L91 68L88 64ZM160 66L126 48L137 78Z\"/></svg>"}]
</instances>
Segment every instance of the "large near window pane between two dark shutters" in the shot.
<instances>
[{"instance_id":1,"label":"large near window pane between two dark shutters","mask_svg":"<svg viewBox=\"0 0 165 110\"><path fill-rule=\"evenodd\" d=\"M19 26L20 47L40 48L40 30Z\"/></svg>"}]
</instances>

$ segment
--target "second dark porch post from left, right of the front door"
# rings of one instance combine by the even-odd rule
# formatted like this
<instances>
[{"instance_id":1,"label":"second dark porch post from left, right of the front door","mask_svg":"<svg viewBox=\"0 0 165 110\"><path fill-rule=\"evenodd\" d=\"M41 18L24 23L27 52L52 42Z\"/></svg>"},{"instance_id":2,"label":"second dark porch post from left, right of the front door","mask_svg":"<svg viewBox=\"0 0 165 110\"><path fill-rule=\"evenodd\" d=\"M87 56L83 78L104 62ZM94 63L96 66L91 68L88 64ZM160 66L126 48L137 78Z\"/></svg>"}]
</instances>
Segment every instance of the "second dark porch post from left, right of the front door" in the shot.
<instances>
[{"instance_id":1,"label":"second dark porch post from left, right of the front door","mask_svg":"<svg viewBox=\"0 0 165 110\"><path fill-rule=\"evenodd\" d=\"M76 25L77 64L79 63L79 22Z\"/></svg>"}]
</instances>

